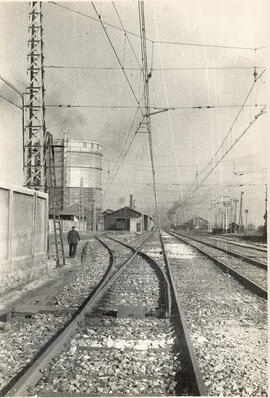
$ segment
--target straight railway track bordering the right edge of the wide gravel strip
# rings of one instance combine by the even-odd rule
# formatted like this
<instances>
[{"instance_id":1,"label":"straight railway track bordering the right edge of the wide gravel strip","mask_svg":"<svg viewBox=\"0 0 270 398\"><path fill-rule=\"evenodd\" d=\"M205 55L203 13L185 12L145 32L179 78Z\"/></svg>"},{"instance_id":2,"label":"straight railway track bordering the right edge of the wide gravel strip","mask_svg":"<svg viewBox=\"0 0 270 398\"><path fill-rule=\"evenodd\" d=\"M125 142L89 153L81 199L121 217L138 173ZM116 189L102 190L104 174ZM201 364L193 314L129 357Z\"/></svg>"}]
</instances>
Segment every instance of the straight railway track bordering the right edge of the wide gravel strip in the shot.
<instances>
[{"instance_id":1,"label":"straight railway track bordering the right edge of the wide gravel strip","mask_svg":"<svg viewBox=\"0 0 270 398\"><path fill-rule=\"evenodd\" d=\"M267 266L265 264L198 238L179 233L170 232L170 234L213 260L223 271L235 277L253 293L267 298Z\"/></svg>"}]
</instances>

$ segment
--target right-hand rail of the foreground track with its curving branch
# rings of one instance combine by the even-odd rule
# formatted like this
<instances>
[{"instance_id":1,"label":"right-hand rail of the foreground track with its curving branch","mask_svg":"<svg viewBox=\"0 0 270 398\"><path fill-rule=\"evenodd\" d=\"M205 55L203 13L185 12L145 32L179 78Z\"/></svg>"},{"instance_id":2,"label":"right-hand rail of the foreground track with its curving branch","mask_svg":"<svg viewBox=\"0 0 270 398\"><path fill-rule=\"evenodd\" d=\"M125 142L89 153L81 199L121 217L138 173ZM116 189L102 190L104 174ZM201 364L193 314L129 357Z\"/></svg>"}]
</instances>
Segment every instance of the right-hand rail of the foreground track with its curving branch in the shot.
<instances>
[{"instance_id":1,"label":"right-hand rail of the foreground track with its curving branch","mask_svg":"<svg viewBox=\"0 0 270 398\"><path fill-rule=\"evenodd\" d=\"M111 237L109 237L109 238L118 243L121 243L122 245L124 245L126 247L132 248L132 246L130 246L127 243L118 241L115 238L111 238ZM151 258L151 256L148 256L144 252L138 252L138 254L141 257L143 257L147 262L150 261L150 262L154 263L155 267L158 267L158 269L162 273L164 280L166 280L166 285L167 285L167 289L168 289L167 296L168 296L168 300L169 300L168 306L170 308L169 317L172 319L173 322L175 322L177 324L179 340L181 340L181 346L183 347L184 352L185 352L185 359L186 359L187 369L188 369L185 374L186 379L189 380L190 385L192 385L192 387L194 389L194 392L193 392L194 396L207 396L208 395L207 390L205 388L205 384L203 382L201 372L200 372L199 366L197 364L196 354L194 352L194 349L193 349L193 346L191 343L191 339L189 337L187 324L186 324L186 321L183 316L184 311L181 307L179 299L177 298L177 295L175 294L176 286L175 286L175 282L172 278L172 272L171 272L169 260L167 257L166 249L165 249L161 234L160 234L160 241L161 241L161 248L163 251L165 264L168 268L168 277L164 273L164 271L161 269L161 267L157 264L157 262ZM134 248L132 248L132 249L134 250ZM183 336L184 336L185 344L183 344Z\"/></svg>"}]
</instances>

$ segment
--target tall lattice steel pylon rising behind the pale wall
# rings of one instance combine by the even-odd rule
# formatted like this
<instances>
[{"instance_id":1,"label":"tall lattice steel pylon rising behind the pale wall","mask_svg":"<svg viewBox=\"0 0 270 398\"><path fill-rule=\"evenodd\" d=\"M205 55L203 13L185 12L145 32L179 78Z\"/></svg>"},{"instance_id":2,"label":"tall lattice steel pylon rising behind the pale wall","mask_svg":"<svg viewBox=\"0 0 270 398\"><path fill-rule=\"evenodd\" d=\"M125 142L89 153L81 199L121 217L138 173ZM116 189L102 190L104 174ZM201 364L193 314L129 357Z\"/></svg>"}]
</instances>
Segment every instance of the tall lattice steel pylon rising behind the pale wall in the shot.
<instances>
[{"instance_id":1,"label":"tall lattice steel pylon rising behind the pale wall","mask_svg":"<svg viewBox=\"0 0 270 398\"><path fill-rule=\"evenodd\" d=\"M45 126L42 3L29 3L28 87L24 126L24 185L47 190L48 134Z\"/></svg>"}]
</instances>

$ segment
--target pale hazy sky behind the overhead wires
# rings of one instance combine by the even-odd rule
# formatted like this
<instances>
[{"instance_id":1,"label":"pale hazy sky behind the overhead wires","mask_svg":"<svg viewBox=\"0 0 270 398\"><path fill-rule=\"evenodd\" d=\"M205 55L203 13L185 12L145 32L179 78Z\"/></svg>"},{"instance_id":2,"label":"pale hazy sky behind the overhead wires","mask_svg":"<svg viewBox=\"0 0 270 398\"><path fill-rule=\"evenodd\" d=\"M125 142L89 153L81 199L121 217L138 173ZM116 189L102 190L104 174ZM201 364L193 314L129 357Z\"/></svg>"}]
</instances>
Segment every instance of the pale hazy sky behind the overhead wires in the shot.
<instances>
[{"instance_id":1,"label":"pale hazy sky behind the overhead wires","mask_svg":"<svg viewBox=\"0 0 270 398\"><path fill-rule=\"evenodd\" d=\"M89 2L58 4L95 16ZM111 2L98 1L95 4L104 21L119 26ZM115 5L126 29L139 33L137 2L120 1L115 2ZM43 14L45 66L118 67L99 22L45 2ZM266 2L261 0L255 3L251 0L145 2L147 37L154 41L257 48L266 44L266 17ZM25 91L28 3L1 2L0 21L0 74ZM107 32L123 65L136 68L135 56L124 33L109 27ZM140 59L140 39L130 35L129 38ZM213 68L266 65L264 49L254 51L155 43L152 53L149 43L148 58L149 66L152 65L154 69L150 80L151 104L160 107L241 105L252 86L254 70ZM160 68L210 69L155 70ZM262 69L258 69L258 73L261 71ZM140 97L140 72L133 70L127 71L127 74L136 95ZM252 91L248 104L265 103L264 86L263 77ZM47 105L134 107L48 107L46 125L55 137L62 137L63 131L68 129L70 138L94 139L103 144L103 188L106 193L104 208L116 209L121 205L128 205L129 193L133 193L137 207L150 211L153 196L145 134L136 136L128 155L113 178L121 146L136 111L136 101L122 71L45 68L45 89ZM19 97L2 82L0 94L20 104ZM21 111L2 98L0 109L1 180L21 185ZM231 143L246 128L259 109L245 108L229 136ZM160 207L170 207L174 201L189 192L196 171L200 173L210 161L238 111L239 108L235 107L178 109L152 117ZM182 207L181 217L206 217L212 199L222 192L238 197L242 189L245 191L244 206L249 208L250 221L262 223L265 190L263 184L266 182L263 156L266 133L264 118L265 116L258 119L224 159L226 161L205 181L208 185L198 190L192 196L191 202ZM134 128L139 120L138 113Z\"/></svg>"}]
</instances>

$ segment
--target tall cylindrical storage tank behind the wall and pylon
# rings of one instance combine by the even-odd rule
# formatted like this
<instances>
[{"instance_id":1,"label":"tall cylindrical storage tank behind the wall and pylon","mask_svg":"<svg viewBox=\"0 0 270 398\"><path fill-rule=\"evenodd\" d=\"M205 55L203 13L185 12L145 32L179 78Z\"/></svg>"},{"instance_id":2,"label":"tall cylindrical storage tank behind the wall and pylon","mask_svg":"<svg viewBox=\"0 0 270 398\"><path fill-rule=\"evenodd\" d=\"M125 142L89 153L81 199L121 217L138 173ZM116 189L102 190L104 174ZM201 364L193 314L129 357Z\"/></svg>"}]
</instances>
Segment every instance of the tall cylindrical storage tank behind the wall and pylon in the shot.
<instances>
[{"instance_id":1,"label":"tall cylindrical storage tank behind the wall and pylon","mask_svg":"<svg viewBox=\"0 0 270 398\"><path fill-rule=\"evenodd\" d=\"M64 206L79 203L100 210L102 146L93 141L66 139L64 168Z\"/></svg>"}]
</instances>

